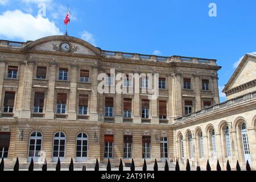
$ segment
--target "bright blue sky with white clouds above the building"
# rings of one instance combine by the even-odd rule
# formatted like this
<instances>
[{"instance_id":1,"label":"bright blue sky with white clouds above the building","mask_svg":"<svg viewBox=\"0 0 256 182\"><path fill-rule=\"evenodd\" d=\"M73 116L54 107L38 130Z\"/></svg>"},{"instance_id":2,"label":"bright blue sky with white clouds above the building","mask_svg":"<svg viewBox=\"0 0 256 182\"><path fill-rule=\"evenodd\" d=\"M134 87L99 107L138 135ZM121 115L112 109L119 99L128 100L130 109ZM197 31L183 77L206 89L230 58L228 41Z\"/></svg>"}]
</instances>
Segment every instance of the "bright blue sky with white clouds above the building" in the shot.
<instances>
[{"instance_id":1,"label":"bright blue sky with white clouds above the building","mask_svg":"<svg viewBox=\"0 0 256 182\"><path fill-rule=\"evenodd\" d=\"M39 17L41 2L46 16ZM208 15L212 2L217 17ZM67 5L69 35L112 51L217 59L220 88L234 64L256 51L255 0L0 0L0 39L63 34Z\"/></svg>"}]
</instances>

